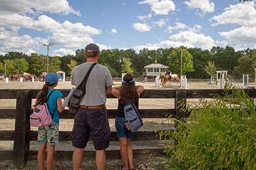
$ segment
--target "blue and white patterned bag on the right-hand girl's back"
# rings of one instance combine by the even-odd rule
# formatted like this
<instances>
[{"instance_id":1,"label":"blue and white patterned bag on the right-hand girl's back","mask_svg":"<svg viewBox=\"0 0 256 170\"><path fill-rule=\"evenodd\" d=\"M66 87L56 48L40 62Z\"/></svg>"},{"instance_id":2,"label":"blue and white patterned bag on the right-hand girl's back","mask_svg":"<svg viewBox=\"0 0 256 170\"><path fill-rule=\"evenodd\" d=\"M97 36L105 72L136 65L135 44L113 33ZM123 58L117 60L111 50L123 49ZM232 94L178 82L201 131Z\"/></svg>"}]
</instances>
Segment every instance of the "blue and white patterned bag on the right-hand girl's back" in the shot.
<instances>
[{"instance_id":1,"label":"blue and white patterned bag on the right-hand girl's back","mask_svg":"<svg viewBox=\"0 0 256 170\"><path fill-rule=\"evenodd\" d=\"M143 126L142 117L138 113L135 105L131 103L129 99L127 99L127 102L124 105L124 118L126 120L124 123L126 129L133 133Z\"/></svg>"}]
</instances>

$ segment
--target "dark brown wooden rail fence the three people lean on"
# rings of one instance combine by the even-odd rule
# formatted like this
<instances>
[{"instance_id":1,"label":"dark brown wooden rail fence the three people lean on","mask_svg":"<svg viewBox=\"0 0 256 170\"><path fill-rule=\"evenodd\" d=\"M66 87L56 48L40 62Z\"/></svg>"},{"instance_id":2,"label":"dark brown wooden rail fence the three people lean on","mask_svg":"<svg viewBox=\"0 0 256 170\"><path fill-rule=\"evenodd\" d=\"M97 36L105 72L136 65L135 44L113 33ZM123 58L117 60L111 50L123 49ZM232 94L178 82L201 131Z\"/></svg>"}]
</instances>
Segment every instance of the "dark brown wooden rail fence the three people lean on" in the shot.
<instances>
[{"instance_id":1,"label":"dark brown wooden rail fence the three people lean on","mask_svg":"<svg viewBox=\"0 0 256 170\"><path fill-rule=\"evenodd\" d=\"M0 160L13 160L13 168L23 168L27 161L37 160L38 151L30 150L30 141L35 141L37 131L31 131L29 125L29 116L32 114L32 99L36 99L40 90L0 90L0 99L16 99L16 109L1 109L0 119L15 119L15 131L0 130L0 140L13 140L13 151L0 151ZM69 94L69 90L60 90L63 96ZM248 90L246 93L250 97L256 97L256 90ZM223 90L144 90L140 98L153 99L175 99L173 109L144 109L139 110L143 118L166 118L170 114L177 116L179 119L186 117L188 113L181 105L181 101L187 99L212 98L212 94L223 94ZM115 98L112 95L107 98ZM116 110L109 110L109 119L115 119ZM73 119L75 115L69 114L69 110L64 110L59 114L60 119ZM161 130L155 131L138 131L135 133L133 141L159 140L157 134ZM59 141L70 141L71 131L59 131ZM92 139L90 139L92 140ZM116 132L111 132L111 141L118 141ZM134 149L133 157L136 159L141 156L148 156L152 151L164 155L163 148L152 149ZM55 160L72 160L73 151L55 151ZM107 150L107 159L121 159L120 150ZM84 160L95 160L95 151L85 151Z\"/></svg>"}]
</instances>

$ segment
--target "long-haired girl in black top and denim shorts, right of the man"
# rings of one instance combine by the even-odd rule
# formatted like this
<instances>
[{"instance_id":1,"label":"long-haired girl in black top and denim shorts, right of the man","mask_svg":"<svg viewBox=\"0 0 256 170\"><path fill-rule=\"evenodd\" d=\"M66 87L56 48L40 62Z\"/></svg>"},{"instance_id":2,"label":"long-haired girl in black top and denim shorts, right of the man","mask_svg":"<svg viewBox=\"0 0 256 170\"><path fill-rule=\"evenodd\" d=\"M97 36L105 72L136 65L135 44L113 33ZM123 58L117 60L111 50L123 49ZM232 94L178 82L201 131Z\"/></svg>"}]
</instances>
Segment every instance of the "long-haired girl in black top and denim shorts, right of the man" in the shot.
<instances>
[{"instance_id":1,"label":"long-haired girl in black top and denim shorts, right of the man","mask_svg":"<svg viewBox=\"0 0 256 170\"><path fill-rule=\"evenodd\" d=\"M133 139L134 133L127 130L124 125L124 105L127 102L127 99L130 102L134 103L138 110L138 102L140 94L143 93L144 87L141 85L136 85L134 82L134 78L132 74L126 74L123 78L123 83L121 87L113 87L112 94L118 99L118 109L115 117L115 128L117 137L120 141L120 152L121 157L124 162L124 166L120 167L121 169L132 169L135 170L132 160L133 160L133 152L132 146L130 145L130 141ZM130 167L129 167L129 165Z\"/></svg>"}]
</instances>

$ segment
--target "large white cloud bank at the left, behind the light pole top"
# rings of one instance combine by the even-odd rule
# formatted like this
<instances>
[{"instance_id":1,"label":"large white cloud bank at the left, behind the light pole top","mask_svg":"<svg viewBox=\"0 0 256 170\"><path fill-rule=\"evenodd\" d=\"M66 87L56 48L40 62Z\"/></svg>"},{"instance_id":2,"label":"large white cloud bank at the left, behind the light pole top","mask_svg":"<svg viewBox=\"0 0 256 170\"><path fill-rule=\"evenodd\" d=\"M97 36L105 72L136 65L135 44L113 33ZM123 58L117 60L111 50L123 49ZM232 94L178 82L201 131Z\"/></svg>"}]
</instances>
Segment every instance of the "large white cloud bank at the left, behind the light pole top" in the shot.
<instances>
[{"instance_id":1,"label":"large white cloud bank at the left, behind the light pole top","mask_svg":"<svg viewBox=\"0 0 256 170\"><path fill-rule=\"evenodd\" d=\"M50 33L48 41L47 39L33 39L30 37L30 40L26 40L25 43L19 43L22 39L27 38L26 35L17 36L18 30L21 27ZM6 28L12 31L7 31ZM0 38L1 44L4 45L1 50L5 53L15 50L24 53L35 52L34 49L39 48L42 42L51 42L55 45L61 45L64 48L83 48L85 44L94 41L91 38L93 34L101 34L101 30L83 25L82 23L73 24L69 21L60 23L46 15L41 15L38 19L17 14L0 15L0 29L1 37L4 37L4 39ZM18 41L13 41L13 39L18 39ZM29 42L31 42L31 44L29 44ZM15 47L15 49L10 47Z\"/></svg>"}]
</instances>

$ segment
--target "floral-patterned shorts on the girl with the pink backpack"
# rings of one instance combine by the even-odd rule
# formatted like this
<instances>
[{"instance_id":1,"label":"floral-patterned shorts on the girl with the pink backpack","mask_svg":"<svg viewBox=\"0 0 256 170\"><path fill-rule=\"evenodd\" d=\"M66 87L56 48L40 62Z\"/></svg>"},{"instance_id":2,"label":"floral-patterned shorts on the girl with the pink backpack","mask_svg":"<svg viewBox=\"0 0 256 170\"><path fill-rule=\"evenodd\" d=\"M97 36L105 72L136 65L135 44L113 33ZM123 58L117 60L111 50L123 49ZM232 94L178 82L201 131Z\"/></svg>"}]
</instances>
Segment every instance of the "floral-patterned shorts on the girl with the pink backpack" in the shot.
<instances>
[{"instance_id":1,"label":"floral-patterned shorts on the girl with the pink backpack","mask_svg":"<svg viewBox=\"0 0 256 170\"><path fill-rule=\"evenodd\" d=\"M48 142L48 145L55 145L59 142L59 123L52 123L49 126L38 128L38 142Z\"/></svg>"}]
</instances>

